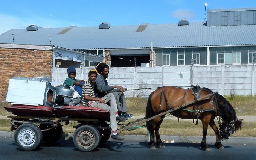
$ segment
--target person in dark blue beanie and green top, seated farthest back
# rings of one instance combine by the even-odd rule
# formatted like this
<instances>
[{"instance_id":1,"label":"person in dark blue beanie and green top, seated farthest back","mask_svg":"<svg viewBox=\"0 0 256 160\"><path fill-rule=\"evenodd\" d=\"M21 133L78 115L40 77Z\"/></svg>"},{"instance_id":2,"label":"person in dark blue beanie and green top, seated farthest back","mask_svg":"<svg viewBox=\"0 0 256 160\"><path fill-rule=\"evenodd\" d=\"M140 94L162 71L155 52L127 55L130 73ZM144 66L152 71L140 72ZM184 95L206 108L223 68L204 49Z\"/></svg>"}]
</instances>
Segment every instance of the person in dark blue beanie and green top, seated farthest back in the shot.
<instances>
[{"instance_id":1,"label":"person in dark blue beanie and green top, seated farthest back","mask_svg":"<svg viewBox=\"0 0 256 160\"><path fill-rule=\"evenodd\" d=\"M70 86L75 86L74 89L79 93L82 98L82 87L84 84L84 80L77 80L76 78L76 69L73 66L69 66L67 68L68 78L63 83L64 88L69 88Z\"/></svg>"}]
</instances>

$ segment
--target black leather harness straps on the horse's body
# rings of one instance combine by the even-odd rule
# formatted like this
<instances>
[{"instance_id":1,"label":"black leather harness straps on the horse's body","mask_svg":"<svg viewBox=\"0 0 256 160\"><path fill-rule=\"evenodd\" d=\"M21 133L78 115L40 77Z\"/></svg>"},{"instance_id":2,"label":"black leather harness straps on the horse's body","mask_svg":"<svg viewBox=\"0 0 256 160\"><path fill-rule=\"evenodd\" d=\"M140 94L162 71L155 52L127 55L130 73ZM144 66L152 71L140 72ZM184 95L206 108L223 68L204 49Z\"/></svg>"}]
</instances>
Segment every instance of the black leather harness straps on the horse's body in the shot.
<instances>
[{"instance_id":1,"label":"black leather harness straps on the horse's body","mask_svg":"<svg viewBox=\"0 0 256 160\"><path fill-rule=\"evenodd\" d=\"M187 94L187 91L189 91L189 89L192 89L192 91L193 91L193 93L194 93L194 96L195 96L195 98L194 98L195 103L194 103L194 106L193 106L193 110L184 109L183 107L185 107L185 106L182 107L183 102L184 102L184 99L185 99L186 94ZM196 123L195 123L195 125L198 124L198 118L199 118L198 113L209 112L209 111L214 111L214 112L216 112L216 110L213 108L213 106L214 106L214 101L212 101L212 108L211 108L211 109L199 110L198 98L200 98L200 89L202 89L202 88L200 88L200 86L198 86L198 85L192 86L191 88L187 88L186 91L185 91L185 93L184 93L184 95L183 95L183 99L182 99L181 105L180 105L180 106L181 106L181 109L194 113L194 115L195 115L195 117L196 117ZM207 90L206 90L206 91L207 91ZM161 110L162 95L164 96L165 103L166 103L166 106L167 106L165 110ZM213 93L213 96L214 96L214 93ZM214 97L215 97L215 96L214 96ZM170 109L173 109L173 108L170 107L170 105L169 105L169 103L168 103L168 99L167 99L166 94L165 94L165 87L162 87L162 91L161 91L161 94L160 94L160 103L159 103L159 106L158 106L158 111L155 112L155 113L165 112L165 111L170 110ZM174 110L174 111L176 111L176 110ZM194 120L195 120L195 119L193 119L193 123L194 123Z\"/></svg>"}]
</instances>

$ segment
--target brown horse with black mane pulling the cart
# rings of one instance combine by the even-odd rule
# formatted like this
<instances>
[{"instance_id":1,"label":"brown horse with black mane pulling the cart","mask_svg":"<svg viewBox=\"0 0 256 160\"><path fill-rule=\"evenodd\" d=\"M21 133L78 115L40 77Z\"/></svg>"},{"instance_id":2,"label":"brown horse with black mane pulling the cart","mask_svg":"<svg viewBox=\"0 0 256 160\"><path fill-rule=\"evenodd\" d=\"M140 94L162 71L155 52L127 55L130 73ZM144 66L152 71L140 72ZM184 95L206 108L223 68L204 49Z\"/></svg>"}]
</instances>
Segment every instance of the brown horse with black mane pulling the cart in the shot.
<instances>
[{"instance_id":1,"label":"brown horse with black mane pulling the cart","mask_svg":"<svg viewBox=\"0 0 256 160\"><path fill-rule=\"evenodd\" d=\"M198 99L200 97L206 98L202 100ZM221 140L228 139L230 134L242 127L243 119L237 119L236 112L229 101L218 94L218 92L213 92L208 88L200 88L199 86L192 86L190 88L165 86L158 88L149 95L146 118L178 106L181 106L181 109L175 110L172 115L182 119L195 119L196 121L200 119L202 121L203 138L201 149L203 150L210 151L210 148L206 144L208 125L215 132L215 147L219 149L224 149ZM222 123L219 122L219 129L214 122L216 116L221 117L219 119L223 121ZM159 128L164 117L165 115L162 115L147 122L147 129L150 133L150 141L148 143L150 149L155 149L155 143L160 148L165 148L159 134Z\"/></svg>"}]
</instances>

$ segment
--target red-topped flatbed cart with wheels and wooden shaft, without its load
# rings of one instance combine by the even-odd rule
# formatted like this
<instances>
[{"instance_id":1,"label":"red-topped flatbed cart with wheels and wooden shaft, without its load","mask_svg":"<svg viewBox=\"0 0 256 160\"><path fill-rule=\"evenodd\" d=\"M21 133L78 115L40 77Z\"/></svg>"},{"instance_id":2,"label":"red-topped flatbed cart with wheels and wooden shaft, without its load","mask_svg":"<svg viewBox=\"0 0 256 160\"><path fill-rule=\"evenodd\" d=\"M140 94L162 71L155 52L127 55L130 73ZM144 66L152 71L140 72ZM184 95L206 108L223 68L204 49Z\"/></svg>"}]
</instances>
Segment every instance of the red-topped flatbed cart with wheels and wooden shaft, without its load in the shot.
<instances>
[{"instance_id":1,"label":"red-topped flatbed cart with wheels and wooden shaft, without its load","mask_svg":"<svg viewBox=\"0 0 256 160\"><path fill-rule=\"evenodd\" d=\"M198 98L198 101L210 96L212 94ZM119 131L134 130L133 128L140 124L168 113L171 114L175 110L184 108L194 102L191 101L151 118L144 117L129 122L122 125ZM11 130L16 130L14 134L15 143L24 151L34 150L42 140L46 143L54 143L61 139L63 134L61 122L65 122L64 125L69 124L69 121L78 122L77 125L73 126L76 129L73 134L73 142L76 148L81 151L92 151L99 144L107 142L111 135L111 128L108 123L110 113L98 108L62 106L53 109L47 106L13 105L5 107L5 109L17 114L17 116L8 116L8 118L11 118Z\"/></svg>"}]
</instances>

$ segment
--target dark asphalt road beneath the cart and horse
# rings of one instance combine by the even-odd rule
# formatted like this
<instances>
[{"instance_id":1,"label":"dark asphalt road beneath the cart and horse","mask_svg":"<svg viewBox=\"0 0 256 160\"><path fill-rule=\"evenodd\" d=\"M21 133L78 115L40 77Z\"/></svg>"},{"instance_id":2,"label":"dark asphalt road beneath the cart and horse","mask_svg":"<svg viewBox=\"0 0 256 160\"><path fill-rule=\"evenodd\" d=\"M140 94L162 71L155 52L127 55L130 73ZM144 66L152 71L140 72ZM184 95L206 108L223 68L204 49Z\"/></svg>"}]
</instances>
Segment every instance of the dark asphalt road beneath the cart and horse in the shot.
<instances>
[{"instance_id":1,"label":"dark asphalt road beneath the cart and horse","mask_svg":"<svg viewBox=\"0 0 256 160\"><path fill-rule=\"evenodd\" d=\"M73 140L59 140L53 146L42 142L35 151L22 151L13 138L0 138L0 159L10 160L254 160L256 145L228 144L226 149L216 149L210 144L212 151L202 151L200 144L165 143L166 148L150 150L146 142L108 141L91 152L81 152L73 144Z\"/></svg>"}]
</instances>

